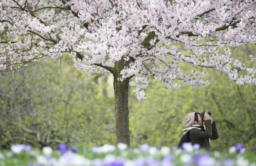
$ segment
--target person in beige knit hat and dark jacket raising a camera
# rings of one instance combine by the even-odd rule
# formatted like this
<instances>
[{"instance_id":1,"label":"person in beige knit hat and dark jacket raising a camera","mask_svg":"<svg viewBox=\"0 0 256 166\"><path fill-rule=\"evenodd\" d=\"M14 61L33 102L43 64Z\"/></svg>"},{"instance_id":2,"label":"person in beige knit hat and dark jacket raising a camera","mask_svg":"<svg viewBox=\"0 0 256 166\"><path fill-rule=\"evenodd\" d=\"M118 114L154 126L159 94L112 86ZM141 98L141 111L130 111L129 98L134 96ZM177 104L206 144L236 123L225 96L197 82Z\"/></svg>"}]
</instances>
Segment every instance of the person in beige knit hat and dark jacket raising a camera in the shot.
<instances>
[{"instance_id":1,"label":"person in beige knit hat and dark jacket raising a camera","mask_svg":"<svg viewBox=\"0 0 256 166\"><path fill-rule=\"evenodd\" d=\"M210 112L189 113L183 123L184 135L189 132L192 145L199 144L200 148L210 150L211 139L218 139L218 131L215 121L212 121Z\"/></svg>"}]
</instances>

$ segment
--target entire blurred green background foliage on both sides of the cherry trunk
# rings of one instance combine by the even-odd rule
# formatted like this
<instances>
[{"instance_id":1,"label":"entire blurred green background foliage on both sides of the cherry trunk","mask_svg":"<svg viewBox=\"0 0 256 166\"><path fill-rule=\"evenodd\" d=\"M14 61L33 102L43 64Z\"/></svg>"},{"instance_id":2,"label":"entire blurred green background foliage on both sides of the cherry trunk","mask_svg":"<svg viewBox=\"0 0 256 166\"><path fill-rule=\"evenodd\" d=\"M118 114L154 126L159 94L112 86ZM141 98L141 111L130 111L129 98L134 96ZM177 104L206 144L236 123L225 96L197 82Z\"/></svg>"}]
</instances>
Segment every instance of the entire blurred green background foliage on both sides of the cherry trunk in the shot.
<instances>
[{"instance_id":1,"label":"entire blurred green background foliage on both sides of the cherry trunk","mask_svg":"<svg viewBox=\"0 0 256 166\"><path fill-rule=\"evenodd\" d=\"M234 53L254 55L254 51L255 45L247 45ZM186 67L182 66L184 70ZM186 115L210 111L219 133L219 139L211 141L212 150L226 151L238 143L247 151L256 150L256 86L238 86L214 69L197 70L208 72L208 87L182 86L165 91L162 83L150 79L146 100L137 100L134 87L130 87L132 147L177 146ZM112 77L85 77L68 55L1 72L1 148L15 143L37 147L116 144Z\"/></svg>"}]
</instances>

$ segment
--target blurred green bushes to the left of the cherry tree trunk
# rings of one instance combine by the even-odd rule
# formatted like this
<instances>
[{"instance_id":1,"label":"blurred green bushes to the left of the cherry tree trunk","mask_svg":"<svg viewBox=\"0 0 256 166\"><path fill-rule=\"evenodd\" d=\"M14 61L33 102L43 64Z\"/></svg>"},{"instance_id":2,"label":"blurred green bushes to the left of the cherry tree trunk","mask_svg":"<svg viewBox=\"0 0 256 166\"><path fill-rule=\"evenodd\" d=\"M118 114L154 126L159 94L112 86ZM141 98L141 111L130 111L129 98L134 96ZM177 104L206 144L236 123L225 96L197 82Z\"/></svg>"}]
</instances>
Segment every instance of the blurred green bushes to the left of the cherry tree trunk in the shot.
<instances>
[{"instance_id":1,"label":"blurred green bushes to the left of the cherry tree trunk","mask_svg":"<svg viewBox=\"0 0 256 166\"><path fill-rule=\"evenodd\" d=\"M0 75L0 146L115 143L114 101L94 80L48 58ZM83 93L81 93L83 92Z\"/></svg>"}]
</instances>

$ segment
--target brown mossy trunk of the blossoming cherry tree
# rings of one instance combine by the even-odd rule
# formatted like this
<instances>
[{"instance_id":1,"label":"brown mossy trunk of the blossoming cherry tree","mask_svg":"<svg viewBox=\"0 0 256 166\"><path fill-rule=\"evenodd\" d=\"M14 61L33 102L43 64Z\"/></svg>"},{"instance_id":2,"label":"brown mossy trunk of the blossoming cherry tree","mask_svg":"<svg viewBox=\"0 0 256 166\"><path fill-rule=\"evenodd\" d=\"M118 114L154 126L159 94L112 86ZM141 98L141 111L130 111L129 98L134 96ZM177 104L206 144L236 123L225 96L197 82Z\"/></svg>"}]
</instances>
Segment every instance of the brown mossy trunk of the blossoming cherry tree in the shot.
<instances>
[{"instance_id":1,"label":"brown mossy trunk of the blossoming cherry tree","mask_svg":"<svg viewBox=\"0 0 256 166\"><path fill-rule=\"evenodd\" d=\"M116 103L116 141L130 146L129 131L129 110L128 110L128 89L129 79L124 81L120 78L120 71L124 68L124 61L115 63L116 72L114 73L114 94Z\"/></svg>"}]
</instances>

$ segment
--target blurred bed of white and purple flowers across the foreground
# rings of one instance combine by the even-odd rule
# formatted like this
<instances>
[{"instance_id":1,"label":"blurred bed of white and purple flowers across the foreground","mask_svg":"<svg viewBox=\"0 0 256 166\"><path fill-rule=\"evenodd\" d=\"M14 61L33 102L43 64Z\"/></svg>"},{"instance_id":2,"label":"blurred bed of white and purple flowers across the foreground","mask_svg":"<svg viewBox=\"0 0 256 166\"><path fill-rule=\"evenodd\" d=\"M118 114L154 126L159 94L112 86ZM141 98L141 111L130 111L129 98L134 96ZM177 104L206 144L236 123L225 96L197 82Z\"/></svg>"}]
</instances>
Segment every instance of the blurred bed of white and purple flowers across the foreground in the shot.
<instances>
[{"instance_id":1,"label":"blurred bed of white and purple flowers across the foreground","mask_svg":"<svg viewBox=\"0 0 256 166\"><path fill-rule=\"evenodd\" d=\"M122 143L92 147L90 150L78 150L74 146L69 149L65 144L60 144L56 151L44 147L42 152L24 147L12 145L8 154L0 155L0 162L6 160L7 156L17 160L22 152L26 152L27 156L36 158L27 166L256 166L254 159L246 158L245 148L241 144L223 154L218 151L210 153L191 143L184 143L183 150L148 145L130 148Z\"/></svg>"}]
</instances>

